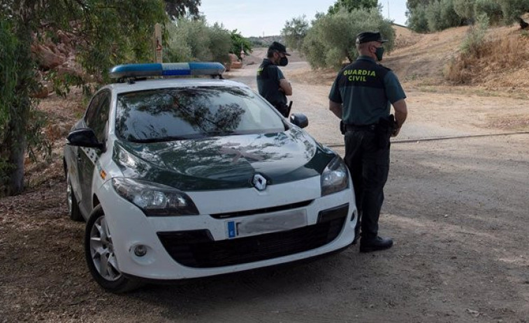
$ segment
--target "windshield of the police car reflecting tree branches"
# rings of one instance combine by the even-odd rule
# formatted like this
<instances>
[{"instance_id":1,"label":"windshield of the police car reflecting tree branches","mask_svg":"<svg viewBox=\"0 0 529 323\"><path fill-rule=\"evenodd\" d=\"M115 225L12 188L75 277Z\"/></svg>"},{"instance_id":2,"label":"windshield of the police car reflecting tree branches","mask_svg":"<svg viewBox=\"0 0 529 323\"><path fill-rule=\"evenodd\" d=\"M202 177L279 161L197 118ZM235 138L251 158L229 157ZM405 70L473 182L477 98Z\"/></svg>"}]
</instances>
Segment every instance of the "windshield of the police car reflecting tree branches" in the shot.
<instances>
[{"instance_id":1,"label":"windshield of the police car reflecting tree branches","mask_svg":"<svg viewBox=\"0 0 529 323\"><path fill-rule=\"evenodd\" d=\"M283 119L240 87L154 89L117 96L116 133L130 142L277 133Z\"/></svg>"}]
</instances>

